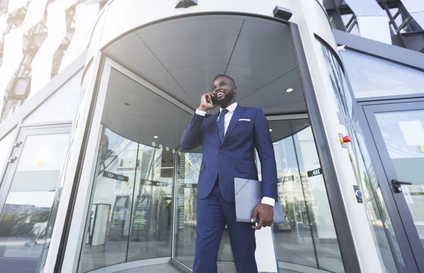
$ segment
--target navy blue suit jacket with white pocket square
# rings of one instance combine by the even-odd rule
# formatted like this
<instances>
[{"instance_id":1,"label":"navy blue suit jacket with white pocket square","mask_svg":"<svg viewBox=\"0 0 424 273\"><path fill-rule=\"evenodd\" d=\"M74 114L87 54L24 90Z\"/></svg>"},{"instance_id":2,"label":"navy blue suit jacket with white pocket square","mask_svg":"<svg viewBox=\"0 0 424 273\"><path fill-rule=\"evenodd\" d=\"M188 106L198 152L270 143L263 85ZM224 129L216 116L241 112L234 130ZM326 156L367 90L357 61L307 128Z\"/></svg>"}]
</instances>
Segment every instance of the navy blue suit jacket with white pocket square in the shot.
<instances>
[{"instance_id":1,"label":"navy blue suit jacket with white pocket square","mask_svg":"<svg viewBox=\"0 0 424 273\"><path fill-rule=\"evenodd\" d=\"M181 148L184 151L190 151L199 145L203 149L197 198L208 197L218 177L223 198L234 203L234 178L258 179L254 161L256 147L261 162L262 196L277 199L276 159L264 112L259 108L237 105L223 144L220 144L218 138L218 115L216 113L203 117L194 114L182 133Z\"/></svg>"}]
</instances>

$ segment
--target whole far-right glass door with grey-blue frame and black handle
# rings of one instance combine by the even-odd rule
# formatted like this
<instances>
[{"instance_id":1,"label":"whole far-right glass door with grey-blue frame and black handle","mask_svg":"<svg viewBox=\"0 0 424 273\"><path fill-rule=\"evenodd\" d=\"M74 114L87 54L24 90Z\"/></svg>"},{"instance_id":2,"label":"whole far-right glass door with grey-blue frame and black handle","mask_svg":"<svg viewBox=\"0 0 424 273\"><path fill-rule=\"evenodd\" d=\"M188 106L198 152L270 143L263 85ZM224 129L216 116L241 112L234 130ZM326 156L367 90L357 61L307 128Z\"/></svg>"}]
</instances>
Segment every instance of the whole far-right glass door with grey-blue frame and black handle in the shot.
<instances>
[{"instance_id":1,"label":"whole far-right glass door with grey-blue frame and black handle","mask_svg":"<svg viewBox=\"0 0 424 273\"><path fill-rule=\"evenodd\" d=\"M424 257L423 103L370 105L365 112L406 236L420 264L418 257Z\"/></svg>"}]
</instances>

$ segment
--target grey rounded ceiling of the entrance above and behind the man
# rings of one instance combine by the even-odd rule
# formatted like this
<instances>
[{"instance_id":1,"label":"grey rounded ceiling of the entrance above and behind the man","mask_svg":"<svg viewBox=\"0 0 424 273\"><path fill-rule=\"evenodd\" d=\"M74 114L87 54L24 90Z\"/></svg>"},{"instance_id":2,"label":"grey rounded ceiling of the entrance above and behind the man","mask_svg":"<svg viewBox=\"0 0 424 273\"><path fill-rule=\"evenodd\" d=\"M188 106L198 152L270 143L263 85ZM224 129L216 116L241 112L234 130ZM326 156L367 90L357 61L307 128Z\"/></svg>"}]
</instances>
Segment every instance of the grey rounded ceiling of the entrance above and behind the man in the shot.
<instances>
[{"instance_id":1,"label":"grey rounded ceiling of the entrance above and behind the man","mask_svg":"<svg viewBox=\"0 0 424 273\"><path fill-rule=\"evenodd\" d=\"M179 18L126 35L105 53L193 112L217 74L235 79L240 105L262 108L266 115L306 112L288 26L282 23L247 16ZM285 93L289 87L295 91ZM112 70L102 116L112 131L173 149L191 115Z\"/></svg>"}]
</instances>

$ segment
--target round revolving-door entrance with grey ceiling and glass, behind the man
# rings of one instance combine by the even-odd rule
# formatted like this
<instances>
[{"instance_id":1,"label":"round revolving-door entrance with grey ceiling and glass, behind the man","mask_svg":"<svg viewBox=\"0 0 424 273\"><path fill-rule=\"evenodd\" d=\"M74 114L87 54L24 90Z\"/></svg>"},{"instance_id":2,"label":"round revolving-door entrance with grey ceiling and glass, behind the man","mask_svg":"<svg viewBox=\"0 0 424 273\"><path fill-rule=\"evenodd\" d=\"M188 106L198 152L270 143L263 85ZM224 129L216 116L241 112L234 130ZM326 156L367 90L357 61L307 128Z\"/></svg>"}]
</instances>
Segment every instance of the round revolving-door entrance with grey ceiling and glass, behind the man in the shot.
<instances>
[{"instance_id":1,"label":"round revolving-door entrance with grey ceiling and glass, behind the man","mask_svg":"<svg viewBox=\"0 0 424 273\"><path fill-rule=\"evenodd\" d=\"M331 178L324 182L323 175L333 166L324 167L322 155L329 151L316 146L324 139L314 139L318 117L308 115L291 39L281 21L212 14L148 25L103 49L83 167L91 176L81 175L83 201L69 228L70 236L83 236L73 245L68 240L62 267L117 272L171 262L192 271L202 153L201 146L182 151L180 140L201 95L224 73L236 81L237 103L261 108L269 120L288 219L273 228L278 267L344 272L339 238L350 231L336 234L327 193ZM211 47L212 40L220 42ZM218 267L235 272L226 231Z\"/></svg>"}]
</instances>

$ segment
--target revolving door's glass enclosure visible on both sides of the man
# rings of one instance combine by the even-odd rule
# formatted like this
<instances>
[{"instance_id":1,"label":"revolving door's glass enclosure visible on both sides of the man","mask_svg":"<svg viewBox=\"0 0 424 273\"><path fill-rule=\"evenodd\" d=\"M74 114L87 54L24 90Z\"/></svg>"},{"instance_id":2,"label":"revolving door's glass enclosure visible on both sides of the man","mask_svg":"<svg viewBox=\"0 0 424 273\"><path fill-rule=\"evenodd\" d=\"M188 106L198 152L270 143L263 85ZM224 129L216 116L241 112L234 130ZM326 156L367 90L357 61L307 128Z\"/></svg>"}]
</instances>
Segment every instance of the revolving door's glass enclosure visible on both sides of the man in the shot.
<instances>
[{"instance_id":1,"label":"revolving door's glass enclosure visible on both sides of the man","mask_svg":"<svg viewBox=\"0 0 424 273\"><path fill-rule=\"evenodd\" d=\"M179 150L192 112L155 92L112 69L78 272L157 257L193 266L201 147ZM269 126L288 219L274 226L279 266L344 272L307 115ZM228 231L218 269L235 272Z\"/></svg>"}]
</instances>

